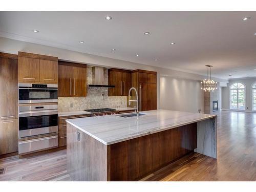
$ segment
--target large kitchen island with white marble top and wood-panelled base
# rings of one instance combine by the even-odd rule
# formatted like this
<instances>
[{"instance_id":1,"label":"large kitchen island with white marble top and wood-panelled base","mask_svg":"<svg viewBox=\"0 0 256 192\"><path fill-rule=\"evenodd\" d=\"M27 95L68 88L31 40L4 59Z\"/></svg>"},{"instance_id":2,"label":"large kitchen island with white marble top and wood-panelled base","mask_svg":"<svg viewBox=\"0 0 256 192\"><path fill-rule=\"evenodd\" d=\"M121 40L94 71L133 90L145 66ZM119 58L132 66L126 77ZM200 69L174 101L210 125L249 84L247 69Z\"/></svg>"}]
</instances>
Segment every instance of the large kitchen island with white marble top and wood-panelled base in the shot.
<instances>
[{"instance_id":1,"label":"large kitchen island with white marble top and wood-panelled base","mask_svg":"<svg viewBox=\"0 0 256 192\"><path fill-rule=\"evenodd\" d=\"M197 152L217 158L216 115L169 110L68 119L74 181L133 181ZM130 113L131 114L131 113Z\"/></svg>"}]
</instances>

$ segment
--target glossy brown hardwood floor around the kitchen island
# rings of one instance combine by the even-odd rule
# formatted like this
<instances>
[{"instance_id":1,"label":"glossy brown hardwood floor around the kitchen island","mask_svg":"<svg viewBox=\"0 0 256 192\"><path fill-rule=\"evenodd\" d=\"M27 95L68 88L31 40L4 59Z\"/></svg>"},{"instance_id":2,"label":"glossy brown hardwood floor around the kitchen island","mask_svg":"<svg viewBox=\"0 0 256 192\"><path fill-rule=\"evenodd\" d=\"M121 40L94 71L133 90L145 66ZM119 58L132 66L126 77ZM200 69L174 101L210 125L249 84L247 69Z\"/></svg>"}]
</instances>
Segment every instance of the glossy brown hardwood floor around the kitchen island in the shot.
<instances>
[{"instance_id":1,"label":"glossy brown hardwood floor around the kitchen island","mask_svg":"<svg viewBox=\"0 0 256 192\"><path fill-rule=\"evenodd\" d=\"M145 181L256 181L256 113L222 111L218 160L192 153L148 175ZM0 181L70 181L66 150L36 157L0 159Z\"/></svg>"}]
</instances>

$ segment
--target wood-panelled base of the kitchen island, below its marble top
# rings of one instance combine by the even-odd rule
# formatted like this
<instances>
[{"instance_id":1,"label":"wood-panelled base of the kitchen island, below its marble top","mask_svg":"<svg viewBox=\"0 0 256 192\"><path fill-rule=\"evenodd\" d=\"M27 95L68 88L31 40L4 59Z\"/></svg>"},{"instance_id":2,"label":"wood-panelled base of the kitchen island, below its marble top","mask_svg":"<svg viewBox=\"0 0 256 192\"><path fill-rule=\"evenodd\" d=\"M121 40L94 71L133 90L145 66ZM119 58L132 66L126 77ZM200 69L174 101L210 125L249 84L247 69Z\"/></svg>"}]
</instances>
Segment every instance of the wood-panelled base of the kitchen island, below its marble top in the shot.
<instances>
[{"instance_id":1,"label":"wood-panelled base of the kitchen island, below its marble top","mask_svg":"<svg viewBox=\"0 0 256 192\"><path fill-rule=\"evenodd\" d=\"M217 158L216 117L105 145L67 123L67 170L74 181L134 181L187 155Z\"/></svg>"}]
</instances>

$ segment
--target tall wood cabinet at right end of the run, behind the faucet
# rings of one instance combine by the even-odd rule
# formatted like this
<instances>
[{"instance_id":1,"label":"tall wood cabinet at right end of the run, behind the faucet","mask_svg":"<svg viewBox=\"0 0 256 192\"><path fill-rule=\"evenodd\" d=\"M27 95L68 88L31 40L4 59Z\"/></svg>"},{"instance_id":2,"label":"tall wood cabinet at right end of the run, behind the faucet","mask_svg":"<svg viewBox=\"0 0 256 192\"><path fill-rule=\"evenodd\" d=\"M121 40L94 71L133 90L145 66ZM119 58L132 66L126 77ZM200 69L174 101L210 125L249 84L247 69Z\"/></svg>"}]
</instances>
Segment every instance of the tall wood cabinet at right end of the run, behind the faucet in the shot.
<instances>
[{"instance_id":1,"label":"tall wood cabinet at right end of the run, behind the faucet","mask_svg":"<svg viewBox=\"0 0 256 192\"><path fill-rule=\"evenodd\" d=\"M157 109L157 73L153 71L135 70L132 72L132 87L138 91L139 111ZM133 99L135 92L132 91ZM132 103L130 107L136 106Z\"/></svg>"}]
</instances>

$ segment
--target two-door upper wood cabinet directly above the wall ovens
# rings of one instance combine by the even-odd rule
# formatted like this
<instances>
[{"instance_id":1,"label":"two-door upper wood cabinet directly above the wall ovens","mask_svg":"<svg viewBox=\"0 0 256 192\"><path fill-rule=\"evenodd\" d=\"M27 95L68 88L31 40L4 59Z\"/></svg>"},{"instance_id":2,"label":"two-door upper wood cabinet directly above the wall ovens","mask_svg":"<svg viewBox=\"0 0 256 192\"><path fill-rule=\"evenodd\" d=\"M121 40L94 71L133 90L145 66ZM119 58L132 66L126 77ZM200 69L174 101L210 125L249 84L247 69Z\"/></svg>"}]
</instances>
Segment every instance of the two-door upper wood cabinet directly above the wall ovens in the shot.
<instances>
[{"instance_id":1,"label":"two-door upper wood cabinet directly above the wall ovens","mask_svg":"<svg viewBox=\"0 0 256 192\"><path fill-rule=\"evenodd\" d=\"M18 52L18 82L58 83L58 58Z\"/></svg>"}]
</instances>

